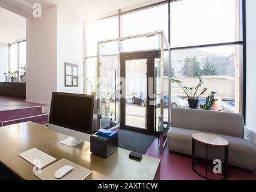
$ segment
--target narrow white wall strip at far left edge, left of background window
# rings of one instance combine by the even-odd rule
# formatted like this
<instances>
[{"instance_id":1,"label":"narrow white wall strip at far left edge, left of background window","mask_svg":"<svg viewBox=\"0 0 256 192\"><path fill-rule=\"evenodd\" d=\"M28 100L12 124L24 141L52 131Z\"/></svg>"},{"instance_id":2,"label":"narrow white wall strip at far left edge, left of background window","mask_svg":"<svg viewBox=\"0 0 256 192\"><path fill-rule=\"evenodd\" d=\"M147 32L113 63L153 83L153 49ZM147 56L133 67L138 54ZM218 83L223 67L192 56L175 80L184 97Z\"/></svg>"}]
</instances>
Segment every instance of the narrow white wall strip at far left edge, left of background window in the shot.
<instances>
[{"instance_id":1,"label":"narrow white wall strip at far left edge, left of background window","mask_svg":"<svg viewBox=\"0 0 256 192\"><path fill-rule=\"evenodd\" d=\"M0 43L0 82L5 82L3 73L8 73L8 44Z\"/></svg>"}]
</instances>

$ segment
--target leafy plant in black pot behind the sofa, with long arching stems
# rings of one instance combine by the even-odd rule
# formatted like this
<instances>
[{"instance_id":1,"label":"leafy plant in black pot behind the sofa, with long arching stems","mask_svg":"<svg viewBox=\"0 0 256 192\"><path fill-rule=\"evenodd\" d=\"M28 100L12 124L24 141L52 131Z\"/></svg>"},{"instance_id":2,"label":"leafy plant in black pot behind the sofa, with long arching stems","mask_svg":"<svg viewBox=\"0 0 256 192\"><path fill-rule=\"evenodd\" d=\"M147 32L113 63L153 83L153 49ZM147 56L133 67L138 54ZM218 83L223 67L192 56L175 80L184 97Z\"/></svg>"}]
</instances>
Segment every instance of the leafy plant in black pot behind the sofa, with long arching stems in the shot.
<instances>
[{"instance_id":1,"label":"leafy plant in black pot behind the sofa, with long arching stems","mask_svg":"<svg viewBox=\"0 0 256 192\"><path fill-rule=\"evenodd\" d=\"M171 79L172 83L177 83L183 89L183 91L187 95L187 101L189 103L189 108L191 109L197 109L197 106L199 103L198 98L207 91L207 88L203 88L200 94L198 94L198 91L201 88L201 86L204 84L204 82L201 76L197 75L197 77L199 79L199 83L195 88L184 85L184 83L178 79Z\"/></svg>"}]
</instances>

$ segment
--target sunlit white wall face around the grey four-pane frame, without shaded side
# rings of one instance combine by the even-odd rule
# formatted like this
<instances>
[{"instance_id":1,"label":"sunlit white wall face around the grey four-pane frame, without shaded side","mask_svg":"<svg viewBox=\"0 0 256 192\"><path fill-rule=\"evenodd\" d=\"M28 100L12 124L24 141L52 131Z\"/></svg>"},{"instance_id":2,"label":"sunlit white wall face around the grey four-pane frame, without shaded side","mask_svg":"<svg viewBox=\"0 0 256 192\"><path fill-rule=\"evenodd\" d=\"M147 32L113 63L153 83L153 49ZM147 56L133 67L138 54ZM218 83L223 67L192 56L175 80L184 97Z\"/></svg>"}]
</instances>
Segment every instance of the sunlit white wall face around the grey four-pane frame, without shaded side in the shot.
<instances>
[{"instance_id":1,"label":"sunlit white wall face around the grey four-pane frame, without shaded side","mask_svg":"<svg viewBox=\"0 0 256 192\"><path fill-rule=\"evenodd\" d=\"M84 70L84 20L67 14L68 12L58 6L57 17L57 89L59 92L72 92L82 94ZM65 87L64 63L79 65L79 86Z\"/></svg>"}]
</instances>

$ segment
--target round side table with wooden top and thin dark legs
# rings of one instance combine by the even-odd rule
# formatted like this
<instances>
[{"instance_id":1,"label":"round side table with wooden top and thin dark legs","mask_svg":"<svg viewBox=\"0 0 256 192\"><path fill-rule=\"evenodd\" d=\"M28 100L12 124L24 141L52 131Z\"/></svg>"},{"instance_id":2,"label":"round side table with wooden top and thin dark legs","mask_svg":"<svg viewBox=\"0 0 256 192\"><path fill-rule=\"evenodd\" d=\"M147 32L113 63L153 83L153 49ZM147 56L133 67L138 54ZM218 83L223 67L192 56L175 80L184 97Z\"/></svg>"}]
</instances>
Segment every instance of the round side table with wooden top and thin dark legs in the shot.
<instances>
[{"instance_id":1,"label":"round side table with wooden top and thin dark legs","mask_svg":"<svg viewBox=\"0 0 256 192\"><path fill-rule=\"evenodd\" d=\"M206 163L197 163L195 160L195 142L202 143L206 145ZM201 176L205 179L210 179L208 177L208 166L212 166L213 164L208 163L208 146L214 146L214 147L224 147L225 148L225 155L224 155L224 172L222 173L223 179L228 179L228 141L223 139L222 137L216 136L214 134L208 134L208 133L194 133L192 134L192 169L194 170L197 175ZM195 169L195 166L198 164L205 164L206 165L206 175L202 175L201 173L198 173ZM210 179L214 180L214 179Z\"/></svg>"}]
</instances>

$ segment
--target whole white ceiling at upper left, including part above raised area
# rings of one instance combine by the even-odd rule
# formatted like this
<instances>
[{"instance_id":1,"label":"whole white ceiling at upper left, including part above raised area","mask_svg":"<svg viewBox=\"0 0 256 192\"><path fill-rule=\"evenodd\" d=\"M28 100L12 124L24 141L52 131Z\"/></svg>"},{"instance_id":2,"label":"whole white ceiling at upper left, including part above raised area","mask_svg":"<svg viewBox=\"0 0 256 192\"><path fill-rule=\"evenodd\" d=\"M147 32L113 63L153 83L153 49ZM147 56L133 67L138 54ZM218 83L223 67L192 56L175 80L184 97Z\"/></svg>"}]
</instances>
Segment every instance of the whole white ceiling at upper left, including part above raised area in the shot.
<instances>
[{"instance_id":1,"label":"whole white ceiling at upper left, including part above raised area","mask_svg":"<svg viewBox=\"0 0 256 192\"><path fill-rule=\"evenodd\" d=\"M25 17L32 16L32 5L35 3L40 3L42 10L58 5L67 14L88 19L146 1L148 0L0 0L0 43L12 43L26 38Z\"/></svg>"}]
</instances>

